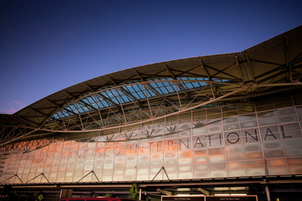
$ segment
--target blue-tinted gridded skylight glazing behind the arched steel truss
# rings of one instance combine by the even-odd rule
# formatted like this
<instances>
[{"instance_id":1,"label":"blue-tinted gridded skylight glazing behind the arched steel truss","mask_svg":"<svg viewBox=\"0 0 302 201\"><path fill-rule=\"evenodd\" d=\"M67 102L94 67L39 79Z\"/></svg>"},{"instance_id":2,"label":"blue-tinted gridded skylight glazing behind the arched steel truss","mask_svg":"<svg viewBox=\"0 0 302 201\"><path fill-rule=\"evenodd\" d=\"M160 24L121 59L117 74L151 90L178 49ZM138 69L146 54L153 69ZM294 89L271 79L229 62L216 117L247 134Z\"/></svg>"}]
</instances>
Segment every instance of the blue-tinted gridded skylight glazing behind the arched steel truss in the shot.
<instances>
[{"instance_id":1,"label":"blue-tinted gridded skylight glazing behind the arched steel truss","mask_svg":"<svg viewBox=\"0 0 302 201\"><path fill-rule=\"evenodd\" d=\"M68 117L70 115L79 115L81 113L89 113L90 111L98 112L98 109L102 108L114 108L120 107L121 104L137 102L143 99L155 97L158 95L166 96L168 93L179 92L182 90L191 90L198 87L204 87L207 85L206 81L208 78L201 77L178 77L178 80L194 80L190 81L181 81L179 84L175 82L167 82L173 80L172 78L158 78L158 79L148 79L147 84L141 84L139 81L122 83L120 88L112 89L114 86L106 87L108 90L105 90L100 93L95 93L90 96L85 96L77 102L73 102L69 105L66 105L61 111L58 111L55 115L52 116L54 119L60 119ZM200 81L196 81L200 80ZM154 82L155 81L155 82ZM163 81L163 82L158 82ZM229 80L213 79L217 82L227 82ZM133 84L134 85L127 85ZM106 89L104 88L104 89ZM98 89L103 90L103 89Z\"/></svg>"}]
</instances>

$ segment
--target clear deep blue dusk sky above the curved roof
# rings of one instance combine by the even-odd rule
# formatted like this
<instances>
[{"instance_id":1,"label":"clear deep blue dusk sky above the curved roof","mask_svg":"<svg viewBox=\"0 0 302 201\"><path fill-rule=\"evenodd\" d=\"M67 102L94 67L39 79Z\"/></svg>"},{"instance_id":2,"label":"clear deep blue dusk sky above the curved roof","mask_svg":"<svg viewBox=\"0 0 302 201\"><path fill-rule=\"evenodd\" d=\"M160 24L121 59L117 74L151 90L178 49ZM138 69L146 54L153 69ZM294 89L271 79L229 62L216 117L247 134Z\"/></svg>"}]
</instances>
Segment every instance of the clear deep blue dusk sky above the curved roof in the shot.
<instances>
[{"instance_id":1,"label":"clear deep blue dusk sky above the curved roof","mask_svg":"<svg viewBox=\"0 0 302 201\"><path fill-rule=\"evenodd\" d=\"M302 24L299 1L13 1L0 6L0 112L140 65L240 52Z\"/></svg>"}]
</instances>

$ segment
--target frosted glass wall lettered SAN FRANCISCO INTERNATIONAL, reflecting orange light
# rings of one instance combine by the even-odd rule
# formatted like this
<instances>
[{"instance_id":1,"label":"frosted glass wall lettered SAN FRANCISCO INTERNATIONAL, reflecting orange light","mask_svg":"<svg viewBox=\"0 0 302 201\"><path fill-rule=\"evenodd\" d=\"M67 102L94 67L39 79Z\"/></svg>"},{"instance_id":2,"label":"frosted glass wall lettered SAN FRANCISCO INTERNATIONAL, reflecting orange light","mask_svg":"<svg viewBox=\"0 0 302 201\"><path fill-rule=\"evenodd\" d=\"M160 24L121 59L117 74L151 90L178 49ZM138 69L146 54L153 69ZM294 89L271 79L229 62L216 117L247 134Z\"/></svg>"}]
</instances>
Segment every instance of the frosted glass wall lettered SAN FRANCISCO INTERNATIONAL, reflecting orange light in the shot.
<instances>
[{"instance_id":1,"label":"frosted glass wall lettered SAN FRANCISCO INTERNATIONAL, reflecting orange light","mask_svg":"<svg viewBox=\"0 0 302 201\"><path fill-rule=\"evenodd\" d=\"M92 170L101 181L143 181L162 167L169 179L302 174L302 107L293 101L302 103L292 96L257 100L256 109L251 100L212 103L134 127L37 137L14 150L11 143L0 147L0 171L22 181L43 173L50 182L76 182ZM161 170L155 179L168 178Z\"/></svg>"}]
</instances>

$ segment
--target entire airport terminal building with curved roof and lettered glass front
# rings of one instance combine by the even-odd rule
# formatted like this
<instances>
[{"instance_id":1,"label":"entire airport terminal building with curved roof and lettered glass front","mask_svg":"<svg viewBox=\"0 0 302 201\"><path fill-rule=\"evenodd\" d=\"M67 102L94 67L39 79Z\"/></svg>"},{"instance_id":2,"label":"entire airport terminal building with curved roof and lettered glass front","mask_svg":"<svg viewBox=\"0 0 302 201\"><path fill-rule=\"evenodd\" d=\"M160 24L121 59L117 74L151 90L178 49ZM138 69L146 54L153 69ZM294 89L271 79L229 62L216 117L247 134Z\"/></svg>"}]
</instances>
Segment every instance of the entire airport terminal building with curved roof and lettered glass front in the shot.
<instances>
[{"instance_id":1,"label":"entire airport terminal building with curved roof and lettered glass front","mask_svg":"<svg viewBox=\"0 0 302 201\"><path fill-rule=\"evenodd\" d=\"M243 52L97 77L0 115L2 199L58 200L62 189L130 198L133 182L153 200L301 199L301 47L300 26Z\"/></svg>"}]
</instances>

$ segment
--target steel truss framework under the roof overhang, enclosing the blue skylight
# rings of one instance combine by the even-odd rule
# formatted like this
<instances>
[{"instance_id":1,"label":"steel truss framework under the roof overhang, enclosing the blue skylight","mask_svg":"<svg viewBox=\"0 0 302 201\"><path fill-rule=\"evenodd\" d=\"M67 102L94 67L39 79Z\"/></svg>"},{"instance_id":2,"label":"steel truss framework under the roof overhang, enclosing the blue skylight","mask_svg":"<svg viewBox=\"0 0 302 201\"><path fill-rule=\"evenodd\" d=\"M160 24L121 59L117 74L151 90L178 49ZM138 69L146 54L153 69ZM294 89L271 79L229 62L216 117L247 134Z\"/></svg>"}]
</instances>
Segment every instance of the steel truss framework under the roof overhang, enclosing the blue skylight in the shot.
<instances>
[{"instance_id":1,"label":"steel truss framework under the roof overhang, enclosing the blue skylight","mask_svg":"<svg viewBox=\"0 0 302 201\"><path fill-rule=\"evenodd\" d=\"M199 64L189 67L163 64L153 74L133 69L134 75L123 79L107 76L108 81L102 85L85 83L86 88L75 93L65 90L64 99L47 98L47 107L28 107L28 115L1 115L0 146L33 135L132 127L212 102L300 87L302 52L291 55L287 36L284 40L283 64L260 61L245 53L244 59L236 55L220 69L199 59ZM256 74L253 67L259 64L270 68ZM237 74L231 74L231 69Z\"/></svg>"}]
</instances>

